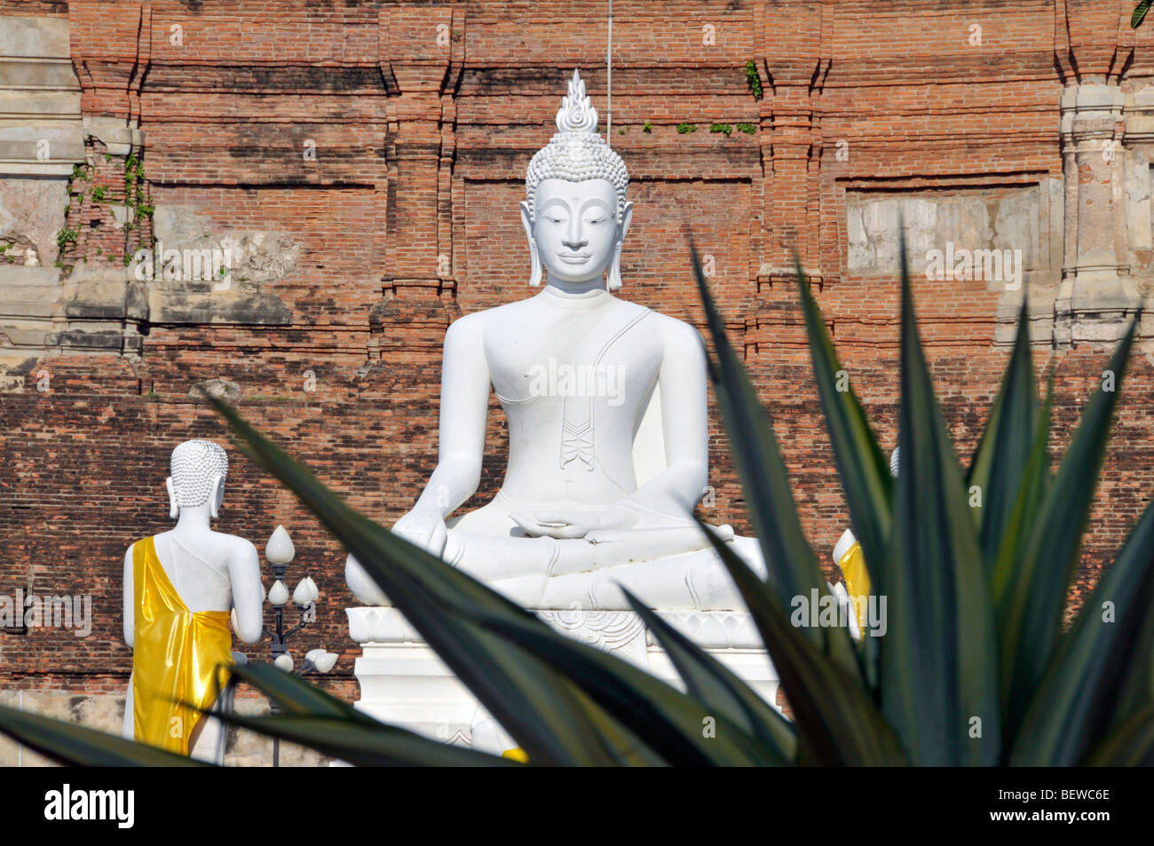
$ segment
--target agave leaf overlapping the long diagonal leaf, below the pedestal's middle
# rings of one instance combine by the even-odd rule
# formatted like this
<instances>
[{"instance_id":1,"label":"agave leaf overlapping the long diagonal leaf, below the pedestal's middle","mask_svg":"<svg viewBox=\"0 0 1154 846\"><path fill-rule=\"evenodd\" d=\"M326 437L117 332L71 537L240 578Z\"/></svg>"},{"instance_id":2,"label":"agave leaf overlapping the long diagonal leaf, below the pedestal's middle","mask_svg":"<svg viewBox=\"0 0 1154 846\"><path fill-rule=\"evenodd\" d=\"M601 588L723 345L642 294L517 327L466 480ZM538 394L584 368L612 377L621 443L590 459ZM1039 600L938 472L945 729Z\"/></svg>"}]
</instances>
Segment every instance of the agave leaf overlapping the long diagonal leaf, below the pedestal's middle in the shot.
<instances>
[{"instance_id":1,"label":"agave leaf overlapping the long diagonal leaf, below the pedestal's middle","mask_svg":"<svg viewBox=\"0 0 1154 846\"><path fill-rule=\"evenodd\" d=\"M696 699L604 650L561 638L511 617L494 616L481 622L540 660L559 667L638 738L660 749L670 764L773 766L785 763L773 748L755 740L724 713L713 713ZM635 718L627 721L624 714L629 713ZM705 731L710 725L715 727L715 736Z\"/></svg>"}]
</instances>

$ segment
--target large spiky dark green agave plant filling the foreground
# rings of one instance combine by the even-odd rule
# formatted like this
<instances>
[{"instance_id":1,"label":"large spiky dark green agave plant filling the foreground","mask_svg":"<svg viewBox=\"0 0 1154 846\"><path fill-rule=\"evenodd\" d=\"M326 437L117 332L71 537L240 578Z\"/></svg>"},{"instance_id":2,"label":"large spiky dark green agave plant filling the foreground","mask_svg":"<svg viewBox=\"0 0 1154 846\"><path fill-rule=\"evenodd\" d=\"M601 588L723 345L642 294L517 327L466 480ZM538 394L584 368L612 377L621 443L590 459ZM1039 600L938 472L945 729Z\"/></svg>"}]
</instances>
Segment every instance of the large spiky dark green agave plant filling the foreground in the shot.
<instances>
[{"instance_id":1,"label":"large spiky dark green agave plant filling the foreground","mask_svg":"<svg viewBox=\"0 0 1154 846\"><path fill-rule=\"evenodd\" d=\"M905 265L905 256L902 256ZM968 471L958 465L901 286L901 473L894 480L799 268L826 427L887 631L790 623L795 597L830 596L781 452L694 256L715 355L710 375L769 567L759 578L711 539L765 642L794 713L630 597L684 692L555 632L470 576L355 512L216 403L245 452L288 486L366 569L531 764L1070 765L1154 763L1154 507L1073 623L1063 613L1138 319L1058 467L1051 388L1040 403L1025 306ZM1106 387L1112 388L1107 390ZM216 402L216 400L213 400ZM979 496L972 496L972 492ZM981 507L972 507L980 500ZM707 531L707 530L706 530ZM707 532L709 533L709 532ZM519 765L387 726L268 666L237 668L284 711L227 719L354 764ZM714 732L703 732L712 720ZM61 724L62 725L62 724ZM0 731L66 763L185 763L78 726L0 710ZM164 756L163 759L160 756Z\"/></svg>"}]
</instances>

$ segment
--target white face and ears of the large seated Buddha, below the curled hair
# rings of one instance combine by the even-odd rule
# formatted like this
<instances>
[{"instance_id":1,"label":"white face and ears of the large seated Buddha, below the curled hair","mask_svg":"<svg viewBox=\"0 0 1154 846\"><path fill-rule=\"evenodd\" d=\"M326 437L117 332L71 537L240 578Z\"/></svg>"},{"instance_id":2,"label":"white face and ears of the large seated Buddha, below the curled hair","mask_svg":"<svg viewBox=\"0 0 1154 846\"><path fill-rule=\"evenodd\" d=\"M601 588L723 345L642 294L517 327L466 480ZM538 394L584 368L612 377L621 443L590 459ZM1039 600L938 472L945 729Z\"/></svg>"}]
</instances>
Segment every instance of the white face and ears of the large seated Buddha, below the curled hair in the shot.
<instances>
[{"instance_id":1,"label":"white face and ears of the large seated Buddha, below the curled hair","mask_svg":"<svg viewBox=\"0 0 1154 846\"><path fill-rule=\"evenodd\" d=\"M529 218L524 204L522 214L549 282L579 284L601 278L619 254L632 203L627 204L621 225L616 209L613 184L605 179L545 179L538 185L535 219Z\"/></svg>"}]
</instances>

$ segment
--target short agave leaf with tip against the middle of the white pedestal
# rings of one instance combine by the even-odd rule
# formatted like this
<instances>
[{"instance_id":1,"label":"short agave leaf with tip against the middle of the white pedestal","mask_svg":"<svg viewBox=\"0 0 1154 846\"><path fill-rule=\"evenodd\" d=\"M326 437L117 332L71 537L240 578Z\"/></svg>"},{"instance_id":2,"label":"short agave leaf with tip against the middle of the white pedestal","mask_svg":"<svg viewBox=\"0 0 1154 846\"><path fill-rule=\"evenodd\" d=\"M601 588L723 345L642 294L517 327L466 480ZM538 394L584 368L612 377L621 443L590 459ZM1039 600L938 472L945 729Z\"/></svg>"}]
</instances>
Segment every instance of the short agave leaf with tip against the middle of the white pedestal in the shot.
<instances>
[{"instance_id":1,"label":"short agave leaf with tip against the middle of the white pedestal","mask_svg":"<svg viewBox=\"0 0 1154 846\"><path fill-rule=\"evenodd\" d=\"M621 590L665 649L694 698L707 710L725 714L747 734L777 751L780 764L794 761L797 736L787 719L721 661L650 611L624 587Z\"/></svg>"}]
</instances>

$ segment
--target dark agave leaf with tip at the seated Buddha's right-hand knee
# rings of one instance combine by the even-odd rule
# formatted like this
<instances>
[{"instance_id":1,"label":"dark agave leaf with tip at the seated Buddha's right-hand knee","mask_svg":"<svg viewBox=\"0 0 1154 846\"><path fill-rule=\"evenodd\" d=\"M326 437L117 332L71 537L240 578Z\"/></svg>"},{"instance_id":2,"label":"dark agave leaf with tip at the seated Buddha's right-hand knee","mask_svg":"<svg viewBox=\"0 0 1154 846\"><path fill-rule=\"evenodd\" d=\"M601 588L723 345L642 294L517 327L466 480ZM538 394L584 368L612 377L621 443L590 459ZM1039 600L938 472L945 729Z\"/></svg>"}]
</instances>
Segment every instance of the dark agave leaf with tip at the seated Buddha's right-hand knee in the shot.
<instances>
[{"instance_id":1,"label":"dark agave leaf with tip at the seated Buddha's right-hand knee","mask_svg":"<svg viewBox=\"0 0 1154 846\"><path fill-rule=\"evenodd\" d=\"M907 763L893 729L859 679L825 656L787 616L772 589L702 524L741 591L765 642L797 726L799 763L897 766Z\"/></svg>"}]
</instances>

